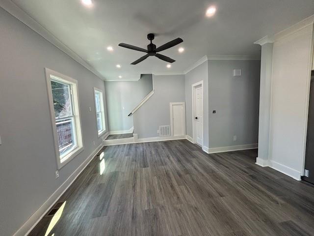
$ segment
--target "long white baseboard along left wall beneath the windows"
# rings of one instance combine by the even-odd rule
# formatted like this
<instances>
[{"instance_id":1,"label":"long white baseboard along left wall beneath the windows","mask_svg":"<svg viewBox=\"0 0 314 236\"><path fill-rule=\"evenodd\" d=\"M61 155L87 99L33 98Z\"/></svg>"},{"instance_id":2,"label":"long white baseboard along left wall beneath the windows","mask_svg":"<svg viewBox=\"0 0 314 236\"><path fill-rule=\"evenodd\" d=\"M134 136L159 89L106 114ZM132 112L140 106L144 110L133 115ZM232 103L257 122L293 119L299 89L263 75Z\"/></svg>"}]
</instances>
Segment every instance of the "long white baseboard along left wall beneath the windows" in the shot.
<instances>
[{"instance_id":1,"label":"long white baseboard along left wall beneath the windows","mask_svg":"<svg viewBox=\"0 0 314 236\"><path fill-rule=\"evenodd\" d=\"M47 214L51 207L59 200L62 194L71 186L71 184L76 180L79 174L86 168L86 166L91 162L97 152L103 147L103 144L98 146L84 161L80 166L69 176L61 186L52 193L52 195L46 200L46 202L39 207L24 223L24 225L13 235L13 236L26 236L30 231L38 224L38 222Z\"/></svg>"}]
</instances>

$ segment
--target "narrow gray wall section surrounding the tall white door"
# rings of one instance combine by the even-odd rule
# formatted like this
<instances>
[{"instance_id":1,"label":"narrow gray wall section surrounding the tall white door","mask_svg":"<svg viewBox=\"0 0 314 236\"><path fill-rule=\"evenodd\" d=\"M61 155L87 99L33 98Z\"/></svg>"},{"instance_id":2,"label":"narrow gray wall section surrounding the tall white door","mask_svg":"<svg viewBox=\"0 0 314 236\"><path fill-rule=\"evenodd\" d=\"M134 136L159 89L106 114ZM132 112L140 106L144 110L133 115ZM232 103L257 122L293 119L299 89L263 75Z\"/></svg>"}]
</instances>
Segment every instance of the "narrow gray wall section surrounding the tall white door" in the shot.
<instances>
[{"instance_id":1,"label":"narrow gray wall section surrounding the tall white door","mask_svg":"<svg viewBox=\"0 0 314 236\"><path fill-rule=\"evenodd\" d=\"M204 146L209 147L209 99L208 99L208 62L205 61L185 74L185 125L186 134L193 137L192 128L192 85L204 81Z\"/></svg>"}]
</instances>

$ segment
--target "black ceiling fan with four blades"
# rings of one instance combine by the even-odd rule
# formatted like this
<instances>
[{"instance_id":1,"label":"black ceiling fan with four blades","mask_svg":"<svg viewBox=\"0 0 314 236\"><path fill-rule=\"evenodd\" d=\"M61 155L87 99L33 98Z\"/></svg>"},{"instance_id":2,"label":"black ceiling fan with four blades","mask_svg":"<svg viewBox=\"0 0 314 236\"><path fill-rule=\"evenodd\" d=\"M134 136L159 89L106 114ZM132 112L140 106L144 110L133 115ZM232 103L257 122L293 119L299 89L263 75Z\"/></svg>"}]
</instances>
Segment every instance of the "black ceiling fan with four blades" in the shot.
<instances>
[{"instance_id":1,"label":"black ceiling fan with four blades","mask_svg":"<svg viewBox=\"0 0 314 236\"><path fill-rule=\"evenodd\" d=\"M172 40L172 41L170 41L168 43L165 43L165 44L161 45L158 48L156 48L156 45L152 43L152 40L154 40L154 38L155 38L154 33L147 34L147 38L148 38L148 40L151 41L151 43L147 45L147 50L144 49L144 48L139 48L139 47L136 47L136 46L133 46L133 45L130 45L130 44L126 44L126 43L120 43L119 44L120 47L129 48L129 49L132 49L132 50L136 50L136 51L147 53L145 56L141 57L140 59L137 59L137 60L133 61L131 63L131 65L136 65L137 63L147 59L150 56L155 56L155 57L157 57L159 59L165 60L165 61L170 62L170 63L175 62L174 59L168 58L168 57L163 56L163 55L158 54L158 53L163 51L163 50L166 50L168 48L174 47L174 46L176 46L179 43L182 43L183 42L182 38L176 38L176 39L174 39L174 40Z\"/></svg>"}]
</instances>

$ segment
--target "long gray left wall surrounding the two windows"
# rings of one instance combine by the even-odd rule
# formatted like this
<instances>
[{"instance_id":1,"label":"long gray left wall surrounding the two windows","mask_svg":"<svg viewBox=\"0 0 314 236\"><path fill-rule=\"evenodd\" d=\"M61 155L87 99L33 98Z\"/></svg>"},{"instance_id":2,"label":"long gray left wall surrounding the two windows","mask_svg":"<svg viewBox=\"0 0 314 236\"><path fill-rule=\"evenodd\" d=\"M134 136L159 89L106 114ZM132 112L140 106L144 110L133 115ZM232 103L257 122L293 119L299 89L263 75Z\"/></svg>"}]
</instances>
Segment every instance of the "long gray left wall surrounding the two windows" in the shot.
<instances>
[{"instance_id":1,"label":"long gray left wall surrounding the two windows","mask_svg":"<svg viewBox=\"0 0 314 236\"><path fill-rule=\"evenodd\" d=\"M102 143L93 87L105 88L93 73L2 8L0 35L0 235L10 236ZM60 169L57 179L45 67L78 80L84 150Z\"/></svg>"}]
</instances>

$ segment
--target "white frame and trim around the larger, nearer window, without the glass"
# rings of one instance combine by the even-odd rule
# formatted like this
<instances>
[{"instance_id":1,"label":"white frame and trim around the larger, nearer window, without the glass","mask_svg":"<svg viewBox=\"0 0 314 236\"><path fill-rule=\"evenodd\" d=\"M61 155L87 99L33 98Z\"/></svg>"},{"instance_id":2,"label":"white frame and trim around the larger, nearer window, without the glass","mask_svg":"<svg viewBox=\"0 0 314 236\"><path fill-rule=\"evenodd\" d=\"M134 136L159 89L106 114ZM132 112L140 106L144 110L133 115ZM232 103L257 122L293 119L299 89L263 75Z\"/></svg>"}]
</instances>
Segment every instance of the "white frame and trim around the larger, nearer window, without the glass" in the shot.
<instances>
[{"instance_id":1,"label":"white frame and trim around the larger, nearer window, without the glass","mask_svg":"<svg viewBox=\"0 0 314 236\"><path fill-rule=\"evenodd\" d=\"M48 100L49 100L49 107L50 107L50 114L51 114L51 121L52 121L52 133L54 138L54 148L55 148L55 156L57 161L58 170L69 163L75 156L80 153L83 147L83 137L82 137L82 128L81 128L81 118L80 118L80 109L79 109L79 99L78 99L78 81L63 75L59 72L53 71L51 69L45 68L46 72L46 81L47 81L47 91L48 91ZM54 79L52 79L54 77ZM75 135L76 135L76 148L71 150L69 153L64 155L61 159L60 152L59 152L59 142L58 142L58 133L57 133L57 126L55 120L55 113L54 113L54 106L53 106L53 97L52 97L52 86L51 81L59 81L60 83L68 84L71 86L71 95L73 101L73 117L75 120Z\"/></svg>"}]
</instances>

